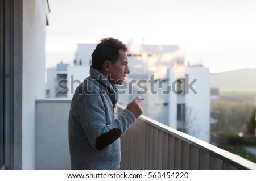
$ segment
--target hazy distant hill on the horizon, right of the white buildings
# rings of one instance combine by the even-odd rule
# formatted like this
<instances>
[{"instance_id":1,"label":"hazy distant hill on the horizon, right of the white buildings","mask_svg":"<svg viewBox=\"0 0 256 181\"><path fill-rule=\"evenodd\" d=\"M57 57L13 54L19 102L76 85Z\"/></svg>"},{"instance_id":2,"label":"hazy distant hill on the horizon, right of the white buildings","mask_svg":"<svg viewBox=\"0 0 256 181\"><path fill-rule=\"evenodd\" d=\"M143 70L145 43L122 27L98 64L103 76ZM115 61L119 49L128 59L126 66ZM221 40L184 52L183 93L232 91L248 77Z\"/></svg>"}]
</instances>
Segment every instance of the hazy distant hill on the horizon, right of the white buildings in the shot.
<instances>
[{"instance_id":1,"label":"hazy distant hill on the horizon, right of the white buildings","mask_svg":"<svg viewBox=\"0 0 256 181\"><path fill-rule=\"evenodd\" d=\"M220 91L256 91L256 68L212 73L210 87Z\"/></svg>"}]
</instances>

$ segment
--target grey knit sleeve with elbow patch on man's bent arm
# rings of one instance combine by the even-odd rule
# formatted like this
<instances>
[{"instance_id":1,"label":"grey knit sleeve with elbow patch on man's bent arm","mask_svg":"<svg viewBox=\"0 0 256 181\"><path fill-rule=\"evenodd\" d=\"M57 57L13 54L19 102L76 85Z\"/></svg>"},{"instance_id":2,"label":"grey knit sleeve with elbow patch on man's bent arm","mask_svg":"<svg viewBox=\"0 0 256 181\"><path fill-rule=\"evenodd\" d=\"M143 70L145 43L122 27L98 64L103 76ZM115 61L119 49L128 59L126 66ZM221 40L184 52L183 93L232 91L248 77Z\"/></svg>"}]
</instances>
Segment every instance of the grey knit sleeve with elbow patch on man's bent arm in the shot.
<instances>
[{"instance_id":1,"label":"grey knit sleeve with elbow patch on man's bent arm","mask_svg":"<svg viewBox=\"0 0 256 181\"><path fill-rule=\"evenodd\" d=\"M90 145L101 150L112 144L122 136L129 125L135 121L135 116L129 110L125 109L111 124L107 124L108 114L113 112L107 111L104 106L104 100L100 94L85 95L77 103L75 116L77 121L82 125Z\"/></svg>"}]
</instances>

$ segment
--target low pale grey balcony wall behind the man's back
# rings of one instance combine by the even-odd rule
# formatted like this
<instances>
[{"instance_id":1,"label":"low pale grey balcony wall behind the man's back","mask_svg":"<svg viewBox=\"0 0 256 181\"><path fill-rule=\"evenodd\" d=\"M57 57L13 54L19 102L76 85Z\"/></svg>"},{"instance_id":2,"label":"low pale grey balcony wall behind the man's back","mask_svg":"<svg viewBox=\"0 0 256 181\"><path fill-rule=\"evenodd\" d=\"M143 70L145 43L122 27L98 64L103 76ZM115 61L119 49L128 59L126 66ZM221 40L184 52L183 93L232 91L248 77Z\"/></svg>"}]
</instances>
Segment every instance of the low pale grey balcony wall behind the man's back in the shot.
<instances>
[{"instance_id":1,"label":"low pale grey balcony wall behind the man's back","mask_svg":"<svg viewBox=\"0 0 256 181\"><path fill-rule=\"evenodd\" d=\"M35 169L71 169L68 115L71 100L36 100ZM54 110L54 111L53 111Z\"/></svg>"}]
</instances>

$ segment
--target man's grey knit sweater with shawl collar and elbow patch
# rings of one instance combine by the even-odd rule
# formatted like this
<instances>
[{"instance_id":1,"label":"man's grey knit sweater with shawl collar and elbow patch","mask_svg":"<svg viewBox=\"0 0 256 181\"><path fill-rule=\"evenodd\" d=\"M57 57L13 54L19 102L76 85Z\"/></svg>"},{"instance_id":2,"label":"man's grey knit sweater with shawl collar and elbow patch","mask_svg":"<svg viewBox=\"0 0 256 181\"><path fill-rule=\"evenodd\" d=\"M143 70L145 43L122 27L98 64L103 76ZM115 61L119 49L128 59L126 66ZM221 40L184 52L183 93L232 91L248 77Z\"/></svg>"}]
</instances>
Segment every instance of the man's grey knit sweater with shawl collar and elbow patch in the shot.
<instances>
[{"instance_id":1,"label":"man's grey knit sweater with shawl collar and elbow patch","mask_svg":"<svg viewBox=\"0 0 256 181\"><path fill-rule=\"evenodd\" d=\"M115 87L90 68L90 77L77 87L69 112L71 169L119 169L120 137L135 116L125 109L117 117Z\"/></svg>"}]
</instances>

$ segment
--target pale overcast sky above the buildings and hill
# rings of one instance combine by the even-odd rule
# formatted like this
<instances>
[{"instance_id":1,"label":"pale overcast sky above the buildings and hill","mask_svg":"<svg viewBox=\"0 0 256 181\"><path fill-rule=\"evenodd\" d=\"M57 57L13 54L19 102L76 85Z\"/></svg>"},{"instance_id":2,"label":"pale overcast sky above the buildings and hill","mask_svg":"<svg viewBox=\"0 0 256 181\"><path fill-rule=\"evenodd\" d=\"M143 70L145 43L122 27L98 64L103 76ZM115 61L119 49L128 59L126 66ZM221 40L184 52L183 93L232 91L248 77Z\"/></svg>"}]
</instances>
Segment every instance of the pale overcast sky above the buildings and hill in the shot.
<instances>
[{"instance_id":1,"label":"pale overcast sky above the buildings and hill","mask_svg":"<svg viewBox=\"0 0 256 181\"><path fill-rule=\"evenodd\" d=\"M256 68L254 0L49 0L46 68L75 58L77 43L184 45L210 72Z\"/></svg>"}]
</instances>

